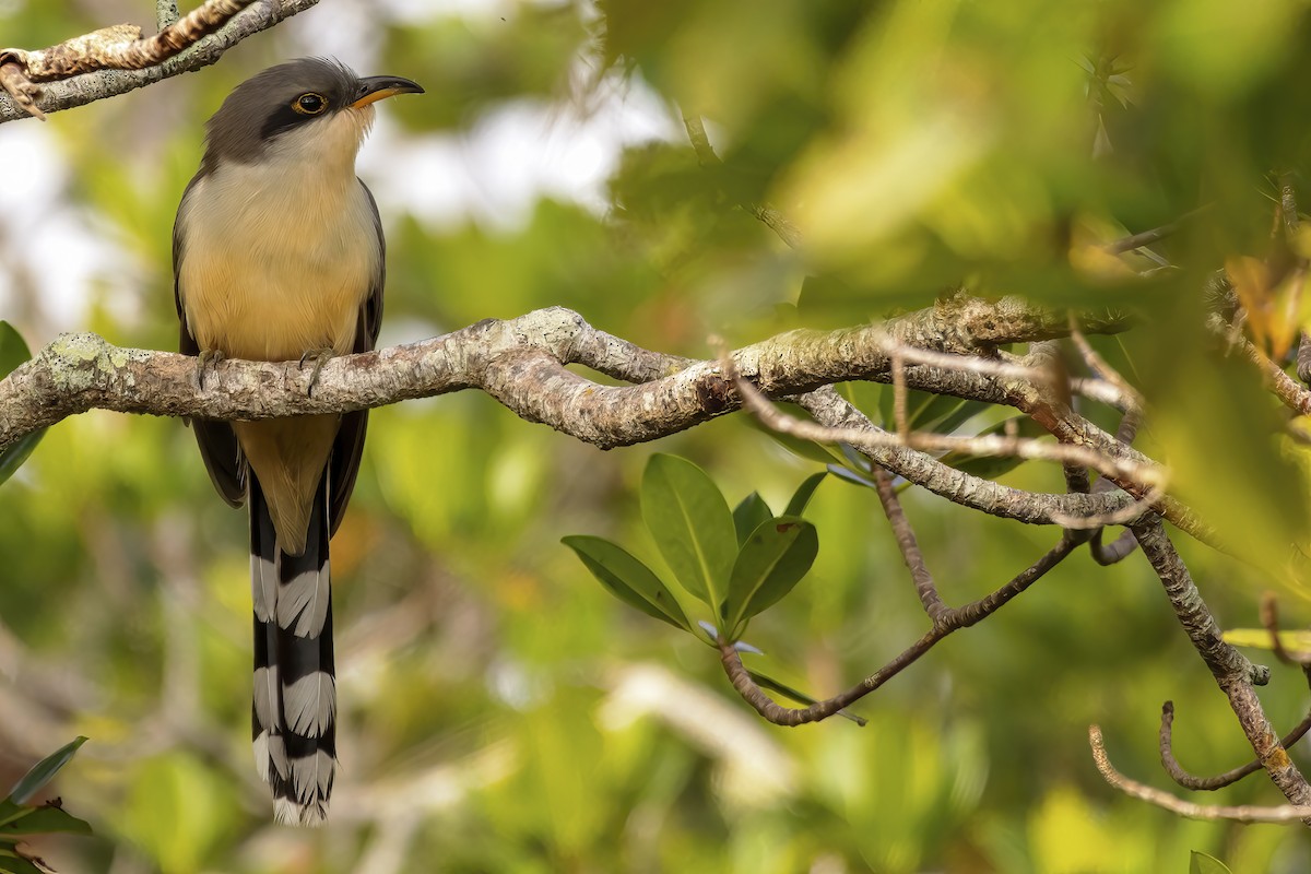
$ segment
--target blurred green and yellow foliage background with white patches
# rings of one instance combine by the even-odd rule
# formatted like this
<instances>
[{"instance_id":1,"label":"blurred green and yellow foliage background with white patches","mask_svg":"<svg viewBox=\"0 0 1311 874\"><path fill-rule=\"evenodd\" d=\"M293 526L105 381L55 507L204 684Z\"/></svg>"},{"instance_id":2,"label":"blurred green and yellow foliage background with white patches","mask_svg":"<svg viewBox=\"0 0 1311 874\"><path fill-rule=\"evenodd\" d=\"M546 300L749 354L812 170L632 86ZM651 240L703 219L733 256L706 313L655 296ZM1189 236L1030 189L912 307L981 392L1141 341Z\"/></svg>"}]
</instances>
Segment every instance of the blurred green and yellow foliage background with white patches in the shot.
<instances>
[{"instance_id":1,"label":"blurred green and yellow foliage background with white patches","mask_svg":"<svg viewBox=\"0 0 1311 874\"><path fill-rule=\"evenodd\" d=\"M0 0L0 43L152 16ZM1289 0L323 0L199 73L0 128L0 317L33 347L94 330L174 349L170 227L203 121L256 71L334 55L427 88L382 105L359 161L387 224L384 343L566 305L705 356L712 333L855 324L961 283L1131 309L1099 347L1154 404L1143 448L1235 541L1282 556L1306 476L1251 373L1209 354L1200 290L1268 252L1272 173L1301 178L1307 45ZM722 162L701 165L680 113ZM802 252L742 208L764 202ZM1151 282L1087 245L1203 204ZM1186 767L1251 755L1138 556L1078 553L861 701L864 729L760 722L713 651L558 542L658 565L637 499L654 451L776 508L821 469L739 417L600 452L472 392L374 413L333 542L342 770L308 832L271 824L250 761L244 514L180 422L62 422L0 487L0 786L90 738L58 793L97 835L37 843L60 871L1183 871L1190 850L1311 867L1295 827L1183 820L1097 777L1092 722L1168 788L1168 698ZM1004 481L1063 487L1050 465ZM903 498L953 603L1057 537ZM872 491L830 478L810 518L818 561L750 639L826 696L926 620ZM1295 582L1179 540L1226 626L1255 625L1265 588L1307 618ZM1277 668L1262 697L1289 726L1307 696ZM1202 801L1282 798L1257 776Z\"/></svg>"}]
</instances>

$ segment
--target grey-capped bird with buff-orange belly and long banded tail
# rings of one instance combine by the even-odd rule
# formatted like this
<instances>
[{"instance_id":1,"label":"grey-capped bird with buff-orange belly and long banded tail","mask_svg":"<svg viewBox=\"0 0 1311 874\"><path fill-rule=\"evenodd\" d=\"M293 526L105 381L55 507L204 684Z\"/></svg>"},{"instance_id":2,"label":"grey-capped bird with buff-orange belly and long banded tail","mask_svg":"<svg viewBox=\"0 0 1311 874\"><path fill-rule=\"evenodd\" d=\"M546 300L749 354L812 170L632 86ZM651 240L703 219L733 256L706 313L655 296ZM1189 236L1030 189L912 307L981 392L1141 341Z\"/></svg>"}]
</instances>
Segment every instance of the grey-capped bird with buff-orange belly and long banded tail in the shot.
<instances>
[{"instance_id":1,"label":"grey-capped bird with buff-orange belly and long banded tail","mask_svg":"<svg viewBox=\"0 0 1311 874\"><path fill-rule=\"evenodd\" d=\"M207 364L364 352L378 342L385 241L355 156L374 104L423 89L328 58L270 67L206 124L173 225L180 351ZM337 770L328 542L359 470L368 411L190 422L219 495L249 504L252 738L274 816L320 826Z\"/></svg>"}]
</instances>

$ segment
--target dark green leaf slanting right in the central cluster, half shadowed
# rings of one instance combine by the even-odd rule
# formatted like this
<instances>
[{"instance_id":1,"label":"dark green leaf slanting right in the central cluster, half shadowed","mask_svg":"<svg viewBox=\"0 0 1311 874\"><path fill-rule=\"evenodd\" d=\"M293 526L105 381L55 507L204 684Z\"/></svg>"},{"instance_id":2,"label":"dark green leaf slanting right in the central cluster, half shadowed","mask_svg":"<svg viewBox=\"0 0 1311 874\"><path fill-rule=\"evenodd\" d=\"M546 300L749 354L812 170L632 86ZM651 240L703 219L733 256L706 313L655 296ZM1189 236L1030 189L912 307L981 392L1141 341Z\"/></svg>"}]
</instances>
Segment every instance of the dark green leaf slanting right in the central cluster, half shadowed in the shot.
<instances>
[{"instance_id":1,"label":"dark green leaf slanting right in the central cluster, half shadowed","mask_svg":"<svg viewBox=\"0 0 1311 874\"><path fill-rule=\"evenodd\" d=\"M724 630L737 638L753 616L772 607L810 570L819 552L815 527L797 516L768 519L742 544L724 604Z\"/></svg>"}]
</instances>

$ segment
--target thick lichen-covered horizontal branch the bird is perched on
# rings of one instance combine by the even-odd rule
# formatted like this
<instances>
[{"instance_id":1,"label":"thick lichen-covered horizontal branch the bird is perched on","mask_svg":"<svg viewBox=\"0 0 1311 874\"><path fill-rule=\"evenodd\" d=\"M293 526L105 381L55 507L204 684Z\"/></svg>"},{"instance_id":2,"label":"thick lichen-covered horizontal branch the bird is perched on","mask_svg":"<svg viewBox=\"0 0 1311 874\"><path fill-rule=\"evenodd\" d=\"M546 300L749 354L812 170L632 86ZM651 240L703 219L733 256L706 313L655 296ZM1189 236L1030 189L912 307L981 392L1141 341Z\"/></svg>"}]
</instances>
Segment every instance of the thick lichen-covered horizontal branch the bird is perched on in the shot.
<instances>
[{"instance_id":1,"label":"thick lichen-covered horizontal branch the bird is perched on","mask_svg":"<svg viewBox=\"0 0 1311 874\"><path fill-rule=\"evenodd\" d=\"M999 305L1011 307L1002 301ZM986 320L987 304L974 305ZM1036 311L1041 312L1041 311ZM937 308L878 328L789 332L733 354L735 367L775 396L800 396L825 425L872 427L827 388L852 379L889 379L888 337L935 339ZM1016 320L1011 318L1012 326ZM1055 314L1030 314L1037 334L1063 330ZM905 342L898 339L897 342ZM600 385L570 371L579 363L636 385ZM905 368L911 388L1006 402L1007 387L969 370ZM206 366L173 352L119 349L90 334L64 335L0 381L0 448L26 432L93 408L155 415L262 419L354 410L477 388L520 418L612 448L666 436L735 410L741 400L714 362L642 350L597 330L577 313L552 308L328 362L309 390L311 368L295 362L225 360ZM859 418L857 418L859 417ZM1038 495L1000 486L906 447L873 447L871 457L957 503L1033 524L1053 516L1103 516L1124 494ZM1138 456L1142 457L1142 456Z\"/></svg>"}]
</instances>

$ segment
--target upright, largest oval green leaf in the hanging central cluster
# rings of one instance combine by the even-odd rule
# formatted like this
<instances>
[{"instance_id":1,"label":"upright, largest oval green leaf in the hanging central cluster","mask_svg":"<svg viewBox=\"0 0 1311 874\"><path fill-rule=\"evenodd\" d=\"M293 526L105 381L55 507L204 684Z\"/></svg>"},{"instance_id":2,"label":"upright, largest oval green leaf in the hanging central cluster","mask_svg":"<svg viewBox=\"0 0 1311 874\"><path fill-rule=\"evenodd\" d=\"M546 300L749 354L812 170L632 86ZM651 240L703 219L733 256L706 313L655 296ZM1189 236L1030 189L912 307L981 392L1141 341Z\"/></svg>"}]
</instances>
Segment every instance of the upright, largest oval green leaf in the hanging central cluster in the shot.
<instances>
[{"instance_id":1,"label":"upright, largest oval green leaf in the hanging central cluster","mask_svg":"<svg viewBox=\"0 0 1311 874\"><path fill-rule=\"evenodd\" d=\"M642 476L642 519L678 582L718 616L737 533L714 482L687 459L653 455Z\"/></svg>"}]
</instances>

